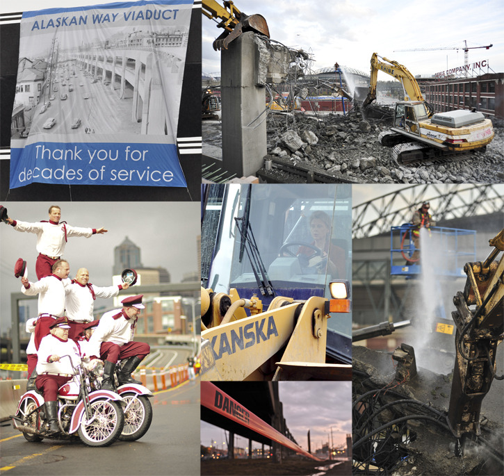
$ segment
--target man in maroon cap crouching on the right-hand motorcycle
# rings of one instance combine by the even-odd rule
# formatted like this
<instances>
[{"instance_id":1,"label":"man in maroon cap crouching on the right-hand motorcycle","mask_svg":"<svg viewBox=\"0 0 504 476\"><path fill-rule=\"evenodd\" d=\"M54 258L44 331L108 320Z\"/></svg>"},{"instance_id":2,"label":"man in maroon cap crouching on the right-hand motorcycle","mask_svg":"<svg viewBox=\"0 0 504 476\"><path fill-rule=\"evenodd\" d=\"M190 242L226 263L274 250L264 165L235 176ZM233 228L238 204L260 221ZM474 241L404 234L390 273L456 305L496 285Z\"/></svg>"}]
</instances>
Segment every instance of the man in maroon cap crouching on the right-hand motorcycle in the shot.
<instances>
[{"instance_id":1,"label":"man in maroon cap crouching on the right-hand motorcycle","mask_svg":"<svg viewBox=\"0 0 504 476\"><path fill-rule=\"evenodd\" d=\"M92 357L98 356L105 362L101 388L115 391L114 371L119 359L127 359L117 375L119 385L141 384L131 377L140 362L150 352L150 347L144 342L133 342L133 333L140 310L145 309L142 304L143 295L122 299L122 309L108 311L101 316L99 325L92 334L89 343Z\"/></svg>"}]
</instances>

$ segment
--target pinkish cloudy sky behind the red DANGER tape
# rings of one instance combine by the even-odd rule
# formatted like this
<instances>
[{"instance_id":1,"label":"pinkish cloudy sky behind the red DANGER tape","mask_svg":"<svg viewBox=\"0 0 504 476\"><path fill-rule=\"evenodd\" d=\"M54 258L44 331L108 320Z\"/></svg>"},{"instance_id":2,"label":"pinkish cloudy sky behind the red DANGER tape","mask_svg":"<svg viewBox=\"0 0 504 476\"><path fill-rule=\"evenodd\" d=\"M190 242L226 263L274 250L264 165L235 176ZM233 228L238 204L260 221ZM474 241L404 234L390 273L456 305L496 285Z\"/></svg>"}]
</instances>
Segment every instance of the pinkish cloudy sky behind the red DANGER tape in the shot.
<instances>
[{"instance_id":1,"label":"pinkish cloudy sky behind the red DANGER tape","mask_svg":"<svg viewBox=\"0 0 504 476\"><path fill-rule=\"evenodd\" d=\"M279 397L284 404L284 418L295 440L308 449L308 430L314 452L330 438L334 446L346 445L346 435L352 433L352 383L349 381L279 381ZM201 443L208 446L217 441L218 448L226 441L224 430L201 422ZM248 440L236 436L235 448L245 448ZM254 443L253 448L260 448Z\"/></svg>"}]
</instances>

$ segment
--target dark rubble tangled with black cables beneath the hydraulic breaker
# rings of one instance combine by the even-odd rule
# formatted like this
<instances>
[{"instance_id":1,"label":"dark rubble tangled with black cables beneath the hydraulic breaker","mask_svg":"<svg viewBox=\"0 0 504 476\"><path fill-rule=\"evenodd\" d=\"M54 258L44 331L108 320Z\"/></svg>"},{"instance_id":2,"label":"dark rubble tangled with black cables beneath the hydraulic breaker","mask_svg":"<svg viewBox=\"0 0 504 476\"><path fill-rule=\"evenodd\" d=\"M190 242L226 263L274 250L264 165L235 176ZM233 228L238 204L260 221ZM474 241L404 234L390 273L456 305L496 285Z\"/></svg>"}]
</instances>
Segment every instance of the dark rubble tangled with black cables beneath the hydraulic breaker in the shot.
<instances>
[{"instance_id":1,"label":"dark rubble tangled with black cables beneath the hydraulic breaker","mask_svg":"<svg viewBox=\"0 0 504 476\"><path fill-rule=\"evenodd\" d=\"M503 474L501 388L485 398L481 435L457 439L446 421L453 373L418 366L416 378L399 381L391 354L360 345L352 366L353 475Z\"/></svg>"}]
</instances>

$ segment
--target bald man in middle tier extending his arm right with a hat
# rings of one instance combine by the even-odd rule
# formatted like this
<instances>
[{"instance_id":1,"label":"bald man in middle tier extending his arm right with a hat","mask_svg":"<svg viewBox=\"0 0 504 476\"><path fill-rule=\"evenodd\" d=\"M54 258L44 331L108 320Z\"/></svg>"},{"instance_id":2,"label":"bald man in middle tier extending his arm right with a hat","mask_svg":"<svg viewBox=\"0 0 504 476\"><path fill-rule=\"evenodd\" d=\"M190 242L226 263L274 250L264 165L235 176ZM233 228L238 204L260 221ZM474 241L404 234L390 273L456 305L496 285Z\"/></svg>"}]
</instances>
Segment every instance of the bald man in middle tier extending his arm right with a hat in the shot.
<instances>
[{"instance_id":1,"label":"bald man in middle tier extending his arm right with a hat","mask_svg":"<svg viewBox=\"0 0 504 476\"><path fill-rule=\"evenodd\" d=\"M89 282L89 271L86 268L80 268L75 275L75 279L72 279L72 284L65 287L65 307L70 322L68 337L70 339L79 338L84 326L94 319L93 308L97 297L103 297L104 299L114 297L119 294L121 289L127 288L129 288L128 283L106 288L93 286Z\"/></svg>"}]
</instances>

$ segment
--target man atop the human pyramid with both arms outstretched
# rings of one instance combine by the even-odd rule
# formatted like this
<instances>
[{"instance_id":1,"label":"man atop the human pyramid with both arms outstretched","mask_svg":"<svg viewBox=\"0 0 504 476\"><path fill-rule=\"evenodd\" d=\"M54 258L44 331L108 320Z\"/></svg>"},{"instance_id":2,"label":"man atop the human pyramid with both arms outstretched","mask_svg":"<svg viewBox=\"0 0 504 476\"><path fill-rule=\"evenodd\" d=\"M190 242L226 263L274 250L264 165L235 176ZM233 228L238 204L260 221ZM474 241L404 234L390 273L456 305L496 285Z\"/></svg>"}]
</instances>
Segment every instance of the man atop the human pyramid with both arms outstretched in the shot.
<instances>
[{"instance_id":1,"label":"man atop the human pyramid with both arms outstretched","mask_svg":"<svg viewBox=\"0 0 504 476\"><path fill-rule=\"evenodd\" d=\"M37 263L35 272L37 278L51 274L51 268L60 259L65 251L65 245L70 236L90 236L106 233L104 228L77 228L71 227L67 222L60 222L61 209L57 205L49 207L49 221L42 220L36 223L22 222L7 218L6 223L12 225L16 231L27 231L37 234Z\"/></svg>"}]
</instances>

